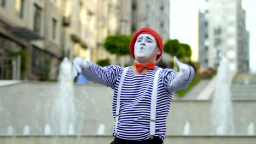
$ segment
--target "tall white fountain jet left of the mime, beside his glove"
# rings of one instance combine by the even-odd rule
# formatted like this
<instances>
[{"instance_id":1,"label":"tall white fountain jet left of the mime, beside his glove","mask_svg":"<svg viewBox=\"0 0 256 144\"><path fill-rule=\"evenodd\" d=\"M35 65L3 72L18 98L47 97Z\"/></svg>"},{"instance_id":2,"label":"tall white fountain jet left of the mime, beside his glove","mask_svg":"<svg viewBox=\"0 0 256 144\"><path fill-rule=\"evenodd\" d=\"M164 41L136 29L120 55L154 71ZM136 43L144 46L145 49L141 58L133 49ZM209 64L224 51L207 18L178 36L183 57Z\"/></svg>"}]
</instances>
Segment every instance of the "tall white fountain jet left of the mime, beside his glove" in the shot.
<instances>
[{"instance_id":1,"label":"tall white fountain jet left of the mime, beside his glove","mask_svg":"<svg viewBox=\"0 0 256 144\"><path fill-rule=\"evenodd\" d=\"M57 97L54 99L52 121L55 134L74 134L76 110L74 84L71 77L71 62L65 57L60 65Z\"/></svg>"}]
</instances>

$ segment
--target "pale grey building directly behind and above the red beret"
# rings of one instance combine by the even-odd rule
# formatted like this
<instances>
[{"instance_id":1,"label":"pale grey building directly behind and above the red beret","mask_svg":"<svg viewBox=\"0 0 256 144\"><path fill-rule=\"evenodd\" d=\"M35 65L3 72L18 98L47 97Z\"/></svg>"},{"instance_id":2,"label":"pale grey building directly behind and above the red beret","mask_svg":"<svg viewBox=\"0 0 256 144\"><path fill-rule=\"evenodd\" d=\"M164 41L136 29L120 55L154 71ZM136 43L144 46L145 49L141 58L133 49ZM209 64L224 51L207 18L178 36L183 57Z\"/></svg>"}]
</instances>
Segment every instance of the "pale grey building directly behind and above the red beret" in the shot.
<instances>
[{"instance_id":1,"label":"pale grey building directly behind and above the red beret","mask_svg":"<svg viewBox=\"0 0 256 144\"><path fill-rule=\"evenodd\" d=\"M163 43L170 39L170 1L132 0L131 33L151 27L161 35ZM163 53L160 61L168 63L170 56Z\"/></svg>"}]
</instances>

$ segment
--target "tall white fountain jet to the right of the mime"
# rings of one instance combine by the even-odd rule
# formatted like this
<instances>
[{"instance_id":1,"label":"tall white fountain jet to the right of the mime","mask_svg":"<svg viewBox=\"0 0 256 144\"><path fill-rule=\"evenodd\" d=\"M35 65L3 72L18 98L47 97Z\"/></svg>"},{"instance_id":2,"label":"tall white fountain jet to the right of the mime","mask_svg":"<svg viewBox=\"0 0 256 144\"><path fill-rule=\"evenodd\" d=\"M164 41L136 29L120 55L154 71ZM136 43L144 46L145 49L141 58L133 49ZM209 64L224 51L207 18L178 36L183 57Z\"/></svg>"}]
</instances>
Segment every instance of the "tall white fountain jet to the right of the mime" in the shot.
<instances>
[{"instance_id":1,"label":"tall white fountain jet to the right of the mime","mask_svg":"<svg viewBox=\"0 0 256 144\"><path fill-rule=\"evenodd\" d=\"M216 90L211 107L213 134L234 133L230 85L229 62L227 58L223 57L218 67Z\"/></svg>"}]
</instances>

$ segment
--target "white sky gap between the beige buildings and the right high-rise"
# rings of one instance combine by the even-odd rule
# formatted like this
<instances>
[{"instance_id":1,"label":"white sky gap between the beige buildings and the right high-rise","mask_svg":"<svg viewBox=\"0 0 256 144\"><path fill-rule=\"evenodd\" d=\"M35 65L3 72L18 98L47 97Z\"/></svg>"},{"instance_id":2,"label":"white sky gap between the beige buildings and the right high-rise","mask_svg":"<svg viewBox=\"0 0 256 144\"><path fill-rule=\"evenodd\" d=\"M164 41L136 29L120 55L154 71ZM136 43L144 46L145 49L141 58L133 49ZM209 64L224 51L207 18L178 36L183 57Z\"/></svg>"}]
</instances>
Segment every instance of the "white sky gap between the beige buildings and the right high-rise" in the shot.
<instances>
[{"instance_id":1,"label":"white sky gap between the beige buildings and the right high-rise","mask_svg":"<svg viewBox=\"0 0 256 144\"><path fill-rule=\"evenodd\" d=\"M189 44L192 61L197 61L197 1L170 0L170 39Z\"/></svg>"}]
</instances>

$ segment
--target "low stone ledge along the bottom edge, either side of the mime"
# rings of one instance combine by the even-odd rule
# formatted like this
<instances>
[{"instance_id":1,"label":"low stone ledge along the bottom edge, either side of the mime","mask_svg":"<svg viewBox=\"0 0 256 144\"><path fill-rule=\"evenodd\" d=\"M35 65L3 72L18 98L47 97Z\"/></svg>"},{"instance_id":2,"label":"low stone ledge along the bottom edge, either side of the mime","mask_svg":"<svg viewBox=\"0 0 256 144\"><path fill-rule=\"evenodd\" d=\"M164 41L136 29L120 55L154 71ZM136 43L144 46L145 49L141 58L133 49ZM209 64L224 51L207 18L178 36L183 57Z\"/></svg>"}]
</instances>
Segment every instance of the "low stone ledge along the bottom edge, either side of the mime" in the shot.
<instances>
[{"instance_id":1,"label":"low stone ledge along the bottom edge, either side of the mime","mask_svg":"<svg viewBox=\"0 0 256 144\"><path fill-rule=\"evenodd\" d=\"M0 135L1 144L27 144L27 143L38 143L38 144L75 144L75 143L88 143L88 144L97 144L97 143L110 143L114 137L112 135L13 135L13 136L4 136ZM247 136L247 135L168 135L164 143L197 143L197 144L255 144L256 136Z\"/></svg>"}]
</instances>

